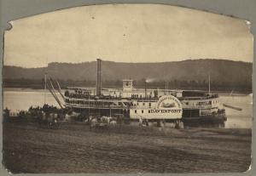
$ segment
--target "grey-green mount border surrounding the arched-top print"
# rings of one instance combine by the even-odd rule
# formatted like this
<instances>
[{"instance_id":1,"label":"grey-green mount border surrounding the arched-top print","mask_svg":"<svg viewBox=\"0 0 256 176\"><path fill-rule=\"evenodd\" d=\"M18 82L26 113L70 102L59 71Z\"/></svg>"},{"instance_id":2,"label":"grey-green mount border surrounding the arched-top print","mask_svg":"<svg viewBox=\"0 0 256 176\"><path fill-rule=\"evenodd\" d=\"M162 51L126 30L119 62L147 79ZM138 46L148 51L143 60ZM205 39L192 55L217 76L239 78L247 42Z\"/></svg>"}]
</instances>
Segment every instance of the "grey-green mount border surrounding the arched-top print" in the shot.
<instances>
[{"instance_id":1,"label":"grey-green mount border surrounding the arched-top print","mask_svg":"<svg viewBox=\"0 0 256 176\"><path fill-rule=\"evenodd\" d=\"M9 24L10 20L18 20L21 18L26 18L28 16L36 14L44 14L47 12L68 9L79 6L87 5L96 5L96 4L111 4L111 3L157 3L157 4L166 4L179 6L189 9L197 9L202 11L207 11L214 14L224 14L232 17L237 17L241 20L248 20L251 22L251 32L253 36L256 36L256 1L255 0L0 0L1 7L1 43L0 43L0 54L1 54L1 71L3 71L3 37L4 31L10 30L11 25ZM255 50L255 41L253 40L253 50ZM255 61L255 54L253 53L253 61ZM255 77L255 65L253 65L253 77ZM3 72L2 72L3 73ZM0 98L1 102L1 121L3 120L3 77L0 78L2 86L0 88L2 96ZM255 93L255 79L253 79L253 93ZM255 97L253 96L253 116L255 115ZM255 144L255 130L256 122L253 121L252 129L252 165L251 169L246 173L162 173L160 175L253 175L256 173L256 164L253 161L253 158L256 156ZM3 124L0 123L0 148L3 149ZM1 160L3 159L3 153L0 154ZM9 175L3 168L3 164L0 170L0 175ZM40 173L42 174L42 173ZM59 175L61 173L55 173L54 175ZM77 175L107 175L100 173L79 173ZM26 175L26 174L17 174L17 175ZM29 174L29 175L38 175L38 173ZM44 175L53 175L52 173ZM70 174L61 174L61 175L72 175ZM108 175L117 175L115 173ZM138 173L129 173L125 175L138 175ZM155 175L154 173L143 173L143 175Z\"/></svg>"}]
</instances>

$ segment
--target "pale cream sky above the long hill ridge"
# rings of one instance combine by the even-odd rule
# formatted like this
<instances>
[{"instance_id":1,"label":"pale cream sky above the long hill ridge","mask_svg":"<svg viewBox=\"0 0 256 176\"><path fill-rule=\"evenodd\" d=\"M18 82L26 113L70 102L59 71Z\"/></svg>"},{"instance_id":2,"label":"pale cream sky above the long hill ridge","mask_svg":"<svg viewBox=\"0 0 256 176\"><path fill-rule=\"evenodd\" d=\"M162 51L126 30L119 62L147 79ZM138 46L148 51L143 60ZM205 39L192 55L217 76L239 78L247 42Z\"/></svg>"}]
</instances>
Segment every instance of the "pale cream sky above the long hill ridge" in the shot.
<instances>
[{"instance_id":1,"label":"pale cream sky above the long hill ridge","mask_svg":"<svg viewBox=\"0 0 256 176\"><path fill-rule=\"evenodd\" d=\"M96 58L116 62L197 59L253 62L249 22L157 4L83 6L11 21L3 65L44 67Z\"/></svg>"}]
</instances>

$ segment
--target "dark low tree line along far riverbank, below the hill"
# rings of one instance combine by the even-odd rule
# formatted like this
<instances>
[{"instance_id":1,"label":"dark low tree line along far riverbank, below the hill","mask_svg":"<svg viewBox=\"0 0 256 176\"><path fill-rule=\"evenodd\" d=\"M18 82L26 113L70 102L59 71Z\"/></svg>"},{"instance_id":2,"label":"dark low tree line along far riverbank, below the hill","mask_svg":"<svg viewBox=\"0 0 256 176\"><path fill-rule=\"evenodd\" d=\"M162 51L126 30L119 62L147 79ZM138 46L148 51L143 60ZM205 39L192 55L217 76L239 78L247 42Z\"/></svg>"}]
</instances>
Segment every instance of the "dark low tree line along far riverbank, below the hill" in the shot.
<instances>
[{"instance_id":1,"label":"dark low tree line along far riverbank, below the hill","mask_svg":"<svg viewBox=\"0 0 256 176\"><path fill-rule=\"evenodd\" d=\"M61 88L67 87L95 87L95 80L57 80ZM207 80L158 80L154 82L145 83L145 79L135 80L133 82L135 88L160 88L165 89L166 86L169 89L196 89L196 90L208 90L209 82ZM122 88L122 80L108 81L102 80L102 88ZM3 88L44 88L44 79L3 79ZM212 91L236 91L251 93L252 82L217 82L211 81Z\"/></svg>"}]
</instances>

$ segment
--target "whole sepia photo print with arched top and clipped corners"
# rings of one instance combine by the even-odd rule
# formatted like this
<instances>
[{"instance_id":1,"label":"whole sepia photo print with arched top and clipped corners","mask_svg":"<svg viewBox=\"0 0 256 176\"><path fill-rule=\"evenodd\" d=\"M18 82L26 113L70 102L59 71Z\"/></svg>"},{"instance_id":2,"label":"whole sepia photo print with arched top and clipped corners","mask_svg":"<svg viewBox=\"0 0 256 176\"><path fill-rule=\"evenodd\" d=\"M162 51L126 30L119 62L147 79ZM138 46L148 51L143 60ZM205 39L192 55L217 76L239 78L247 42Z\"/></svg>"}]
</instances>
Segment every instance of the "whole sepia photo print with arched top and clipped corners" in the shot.
<instances>
[{"instance_id":1,"label":"whole sepia photo print with arched top and clipped corners","mask_svg":"<svg viewBox=\"0 0 256 176\"><path fill-rule=\"evenodd\" d=\"M242 173L250 22L160 4L61 9L4 33L9 173Z\"/></svg>"}]
</instances>

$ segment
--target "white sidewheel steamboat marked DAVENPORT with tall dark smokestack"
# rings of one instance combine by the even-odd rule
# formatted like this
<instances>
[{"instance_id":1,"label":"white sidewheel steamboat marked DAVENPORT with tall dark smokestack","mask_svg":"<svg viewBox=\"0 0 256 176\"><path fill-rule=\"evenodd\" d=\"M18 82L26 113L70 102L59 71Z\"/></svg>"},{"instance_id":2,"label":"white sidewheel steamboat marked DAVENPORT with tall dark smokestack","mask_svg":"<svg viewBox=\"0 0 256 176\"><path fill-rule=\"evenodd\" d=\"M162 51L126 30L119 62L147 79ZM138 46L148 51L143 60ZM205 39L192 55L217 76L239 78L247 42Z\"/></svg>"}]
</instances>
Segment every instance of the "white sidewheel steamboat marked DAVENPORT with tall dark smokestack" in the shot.
<instances>
[{"instance_id":1,"label":"white sidewheel steamboat marked DAVENPORT with tall dark smokestack","mask_svg":"<svg viewBox=\"0 0 256 176\"><path fill-rule=\"evenodd\" d=\"M96 60L96 88L67 88L61 95L65 107L84 116L123 116L128 121L166 122L184 126L224 126L225 111L218 94L202 91L134 88L123 80L123 88L102 88L102 60ZM61 92L60 92L61 94ZM59 100L60 101L60 100Z\"/></svg>"}]
</instances>

